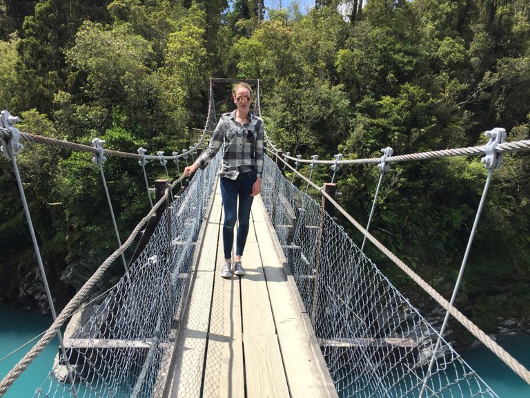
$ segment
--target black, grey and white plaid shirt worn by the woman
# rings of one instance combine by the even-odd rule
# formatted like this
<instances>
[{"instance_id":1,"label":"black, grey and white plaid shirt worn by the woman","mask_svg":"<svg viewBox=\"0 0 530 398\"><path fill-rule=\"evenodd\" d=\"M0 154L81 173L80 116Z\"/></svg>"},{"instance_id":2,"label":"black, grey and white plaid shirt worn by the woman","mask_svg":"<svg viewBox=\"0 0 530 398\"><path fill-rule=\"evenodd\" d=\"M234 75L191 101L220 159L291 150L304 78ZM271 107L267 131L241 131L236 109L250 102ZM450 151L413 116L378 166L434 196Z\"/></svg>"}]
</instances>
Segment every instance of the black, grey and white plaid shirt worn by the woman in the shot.
<instances>
[{"instance_id":1,"label":"black, grey and white plaid shirt worn by the woman","mask_svg":"<svg viewBox=\"0 0 530 398\"><path fill-rule=\"evenodd\" d=\"M264 123L261 117L248 113L250 122L242 126L235 120L235 111L224 113L215 127L208 149L197 162L204 166L222 148L222 167L219 176L235 180L239 173L263 172Z\"/></svg>"}]
</instances>

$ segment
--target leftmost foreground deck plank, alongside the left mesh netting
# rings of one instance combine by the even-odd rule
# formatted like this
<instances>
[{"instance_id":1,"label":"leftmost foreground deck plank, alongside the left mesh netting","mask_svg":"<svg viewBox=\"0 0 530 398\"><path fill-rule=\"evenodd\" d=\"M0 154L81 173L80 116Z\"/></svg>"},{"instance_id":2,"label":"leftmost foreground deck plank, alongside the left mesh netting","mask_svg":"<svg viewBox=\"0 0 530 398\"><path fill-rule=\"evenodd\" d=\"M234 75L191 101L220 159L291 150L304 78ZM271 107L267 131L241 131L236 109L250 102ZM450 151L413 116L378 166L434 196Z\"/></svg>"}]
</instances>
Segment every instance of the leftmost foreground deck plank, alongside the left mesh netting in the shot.
<instances>
[{"instance_id":1,"label":"leftmost foreground deck plank, alongside the left mesh netting","mask_svg":"<svg viewBox=\"0 0 530 398\"><path fill-rule=\"evenodd\" d=\"M199 397L210 316L213 272L197 272L190 305L175 348L171 397Z\"/></svg>"}]
</instances>

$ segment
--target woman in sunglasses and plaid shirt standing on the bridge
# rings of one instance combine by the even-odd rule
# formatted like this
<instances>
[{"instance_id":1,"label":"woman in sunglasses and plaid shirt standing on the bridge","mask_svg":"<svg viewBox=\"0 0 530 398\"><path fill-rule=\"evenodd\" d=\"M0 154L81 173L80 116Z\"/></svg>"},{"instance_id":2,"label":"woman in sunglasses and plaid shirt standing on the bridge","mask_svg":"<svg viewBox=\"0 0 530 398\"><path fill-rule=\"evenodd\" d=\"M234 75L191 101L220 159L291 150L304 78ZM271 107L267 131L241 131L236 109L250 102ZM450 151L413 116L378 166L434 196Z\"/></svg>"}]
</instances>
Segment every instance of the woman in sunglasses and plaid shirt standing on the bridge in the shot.
<instances>
[{"instance_id":1,"label":"woman in sunglasses and plaid shirt standing on the bridge","mask_svg":"<svg viewBox=\"0 0 530 398\"><path fill-rule=\"evenodd\" d=\"M232 277L236 215L238 227L234 274L237 276L245 274L241 258L248 236L252 202L254 196L261 191L263 171L264 123L260 117L250 111L252 88L246 83L238 83L234 86L232 95L237 108L221 116L208 149L191 166L184 169L184 173L193 174L197 167L208 164L219 149L222 149L223 159L219 177L224 209L224 266L221 272L223 278ZM237 209L238 200L239 209Z\"/></svg>"}]
</instances>

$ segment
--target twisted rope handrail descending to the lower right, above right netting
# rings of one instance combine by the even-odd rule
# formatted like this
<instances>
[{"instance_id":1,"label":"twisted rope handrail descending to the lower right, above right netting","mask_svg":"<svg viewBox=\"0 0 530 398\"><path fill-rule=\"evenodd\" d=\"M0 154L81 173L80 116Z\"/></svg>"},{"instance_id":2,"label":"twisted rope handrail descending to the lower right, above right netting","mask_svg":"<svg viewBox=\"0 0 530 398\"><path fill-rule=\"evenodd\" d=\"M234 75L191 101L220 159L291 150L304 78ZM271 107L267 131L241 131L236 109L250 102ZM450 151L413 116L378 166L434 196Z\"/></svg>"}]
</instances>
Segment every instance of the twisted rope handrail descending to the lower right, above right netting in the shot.
<instances>
[{"instance_id":1,"label":"twisted rope handrail descending to the lower right, above right netting","mask_svg":"<svg viewBox=\"0 0 530 398\"><path fill-rule=\"evenodd\" d=\"M498 144L498 146L500 145L502 144ZM268 151L271 150L268 149ZM287 164L287 162L280 158L278 155L275 154L275 156L277 159ZM340 206L335 201L335 199L333 199L328 193L326 193L326 191L324 191L323 187L319 187L313 181L308 180L306 176L304 176L302 173L295 171L295 169L291 167L290 164L287 164L287 167L289 167L289 169L291 169L293 172L298 173L299 177L302 178L302 180L309 182L312 187L317 189L317 191L320 191L322 193L322 196L327 198L329 202L331 202L331 204L335 207L335 209L340 211L340 213L344 217L346 217L346 219L349 220L349 222L351 222L351 224L353 224L355 228L357 228L362 234L364 234L364 236L366 236L366 238L368 238L371 243L373 243L373 245L377 247L377 249L380 249L380 251L386 257L388 257L395 265L397 265L397 267L400 267L400 269L402 269L405 274L407 274L417 285L419 285L427 294L429 294L429 296L431 296L436 302L438 302L438 304L444 307L447 312L450 312L451 315L453 315L454 318L464 326L464 328L469 330L469 332L471 332L473 336L475 336L481 343L486 345L486 347L489 348L489 350L491 350L491 352L493 352L499 359L501 359L511 370L513 370L513 372L515 372L519 377L521 377L524 381L530 384L530 371L527 370L527 368L524 368L524 366L522 366L522 364L517 359L513 358L506 350L504 350L504 348L498 345L498 343L495 343L495 341L493 341L491 337L482 332L482 330L478 328L478 326L475 325L475 323L473 323L470 319L468 319L467 316L462 314L462 312L460 312L456 307L451 305L449 301L444 299L444 297L436 290L434 290L434 288L431 287L429 283L426 283L426 281L424 281L421 276L416 274L408 265L406 265L402 260L400 260L400 258L397 258L395 254L393 254L382 243L380 243L377 238L375 238L372 234L369 233L369 231L366 231L366 229L364 229L364 227L362 227L362 225L360 225L357 220L355 220L346 210L344 210L342 206Z\"/></svg>"}]
</instances>

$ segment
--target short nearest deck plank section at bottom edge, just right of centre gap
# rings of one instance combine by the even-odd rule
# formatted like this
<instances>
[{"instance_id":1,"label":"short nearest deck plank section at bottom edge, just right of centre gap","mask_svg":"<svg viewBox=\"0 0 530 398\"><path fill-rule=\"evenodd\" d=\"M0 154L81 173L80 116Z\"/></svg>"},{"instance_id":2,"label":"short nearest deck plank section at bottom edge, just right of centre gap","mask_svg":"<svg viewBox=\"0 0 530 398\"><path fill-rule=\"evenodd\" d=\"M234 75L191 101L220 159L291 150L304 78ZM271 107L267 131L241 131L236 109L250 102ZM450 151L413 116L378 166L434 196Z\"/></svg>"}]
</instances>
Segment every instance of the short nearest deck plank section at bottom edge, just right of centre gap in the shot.
<instances>
[{"instance_id":1,"label":"short nearest deck plank section at bottom edge, just right of centre gap","mask_svg":"<svg viewBox=\"0 0 530 398\"><path fill-rule=\"evenodd\" d=\"M276 335L245 332L243 344L248 397L290 397Z\"/></svg>"}]
</instances>

